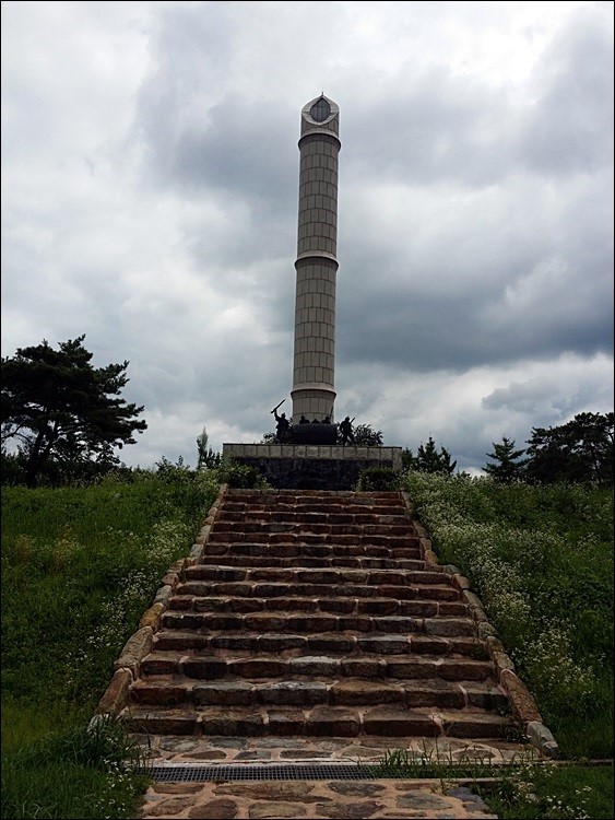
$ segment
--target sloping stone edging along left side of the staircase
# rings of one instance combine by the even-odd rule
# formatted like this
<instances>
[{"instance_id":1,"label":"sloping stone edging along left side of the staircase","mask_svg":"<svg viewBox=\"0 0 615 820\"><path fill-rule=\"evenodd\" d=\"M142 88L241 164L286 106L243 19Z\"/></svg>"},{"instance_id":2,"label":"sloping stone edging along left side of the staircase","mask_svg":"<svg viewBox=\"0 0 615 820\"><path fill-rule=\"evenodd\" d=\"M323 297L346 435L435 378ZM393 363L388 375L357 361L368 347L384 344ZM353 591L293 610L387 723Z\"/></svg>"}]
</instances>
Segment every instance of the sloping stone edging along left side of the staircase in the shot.
<instances>
[{"instance_id":1,"label":"sloping stone edging along left side of the staircase","mask_svg":"<svg viewBox=\"0 0 615 820\"><path fill-rule=\"evenodd\" d=\"M105 715L117 717L126 706L128 690L139 677L141 660L152 649L154 634L159 629L162 617L168 609L170 598L179 582L182 581L186 567L196 564L203 554L217 512L227 492L228 484L221 484L190 553L188 557L175 561L163 575L162 586L156 590L154 602L143 613L137 632L128 639L119 658L114 664L115 672L96 706L95 715L90 722L91 726L99 722Z\"/></svg>"}]
</instances>

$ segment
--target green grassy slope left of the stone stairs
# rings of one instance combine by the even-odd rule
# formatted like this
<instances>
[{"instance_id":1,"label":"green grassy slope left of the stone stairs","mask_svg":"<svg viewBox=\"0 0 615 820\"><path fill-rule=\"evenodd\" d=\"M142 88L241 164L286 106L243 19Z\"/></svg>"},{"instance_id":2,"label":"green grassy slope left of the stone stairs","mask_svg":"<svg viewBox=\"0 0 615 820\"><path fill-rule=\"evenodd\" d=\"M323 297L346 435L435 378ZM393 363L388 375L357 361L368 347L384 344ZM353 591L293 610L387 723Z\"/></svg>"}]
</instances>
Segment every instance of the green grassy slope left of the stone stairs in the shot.
<instances>
[{"instance_id":1,"label":"green grassy slope left of the stone stairs","mask_svg":"<svg viewBox=\"0 0 615 820\"><path fill-rule=\"evenodd\" d=\"M2 818L135 816L145 781L119 769L121 728L94 748L87 726L218 485L169 469L2 489Z\"/></svg>"}]
</instances>

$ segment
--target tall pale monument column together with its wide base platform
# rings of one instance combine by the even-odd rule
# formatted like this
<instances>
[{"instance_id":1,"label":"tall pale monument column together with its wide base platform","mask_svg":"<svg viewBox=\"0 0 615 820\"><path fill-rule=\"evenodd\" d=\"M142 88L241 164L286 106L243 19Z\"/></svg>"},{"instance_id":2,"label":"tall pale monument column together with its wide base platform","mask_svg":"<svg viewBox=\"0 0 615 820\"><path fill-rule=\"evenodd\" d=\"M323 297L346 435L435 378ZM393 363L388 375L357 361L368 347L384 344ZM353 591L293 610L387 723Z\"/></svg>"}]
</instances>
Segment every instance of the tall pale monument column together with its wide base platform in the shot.
<instances>
[{"instance_id":1,"label":"tall pale monument column together with its wide base platform","mask_svg":"<svg viewBox=\"0 0 615 820\"><path fill-rule=\"evenodd\" d=\"M340 109L321 94L301 110L295 293L293 426L274 442L225 443L222 455L255 467L272 487L352 490L369 467L401 470L401 447L342 446L334 421ZM277 406L280 407L280 405ZM277 408L275 408L277 410ZM274 412L273 410L271 412Z\"/></svg>"}]
</instances>

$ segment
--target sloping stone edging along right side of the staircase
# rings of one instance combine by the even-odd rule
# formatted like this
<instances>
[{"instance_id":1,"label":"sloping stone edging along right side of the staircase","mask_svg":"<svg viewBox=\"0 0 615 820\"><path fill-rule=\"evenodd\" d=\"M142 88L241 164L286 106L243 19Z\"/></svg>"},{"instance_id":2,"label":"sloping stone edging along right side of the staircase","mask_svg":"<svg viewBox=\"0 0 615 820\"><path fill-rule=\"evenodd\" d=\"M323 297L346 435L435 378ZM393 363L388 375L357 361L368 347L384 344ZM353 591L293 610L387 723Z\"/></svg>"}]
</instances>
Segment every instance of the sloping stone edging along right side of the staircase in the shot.
<instances>
[{"instance_id":1,"label":"sloping stone edging along right side of the staircase","mask_svg":"<svg viewBox=\"0 0 615 820\"><path fill-rule=\"evenodd\" d=\"M498 683L507 693L512 713L517 721L522 725L527 738L532 746L545 757L558 757L559 747L557 741L549 729L544 725L534 696L516 673L515 664L506 653L504 644L497 635L497 630L489 622L481 599L477 595L471 591L470 581L462 575L459 567L453 564L440 564L439 559L434 551L429 534L416 518L410 493L405 490L401 490L400 492L405 508L412 516L414 528L418 536L423 560L436 572L443 572L447 575L452 576L453 584L461 591L463 600L468 604L470 614L476 623L478 636L485 641L487 652L489 653L489 657L496 669Z\"/></svg>"}]
</instances>

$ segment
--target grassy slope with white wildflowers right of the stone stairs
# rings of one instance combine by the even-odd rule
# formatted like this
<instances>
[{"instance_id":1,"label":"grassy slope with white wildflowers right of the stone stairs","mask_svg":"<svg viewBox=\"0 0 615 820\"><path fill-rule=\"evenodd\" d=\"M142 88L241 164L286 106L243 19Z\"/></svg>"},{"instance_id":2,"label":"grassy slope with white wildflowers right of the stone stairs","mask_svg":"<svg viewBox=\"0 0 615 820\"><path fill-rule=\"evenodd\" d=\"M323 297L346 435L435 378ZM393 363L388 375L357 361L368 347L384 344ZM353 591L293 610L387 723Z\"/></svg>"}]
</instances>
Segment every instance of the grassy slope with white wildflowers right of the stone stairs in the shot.
<instances>
[{"instance_id":1,"label":"grassy slope with white wildflowers right of the stone stairs","mask_svg":"<svg viewBox=\"0 0 615 820\"><path fill-rule=\"evenodd\" d=\"M441 563L482 598L567 757L613 755L613 493L413 473Z\"/></svg>"}]
</instances>

